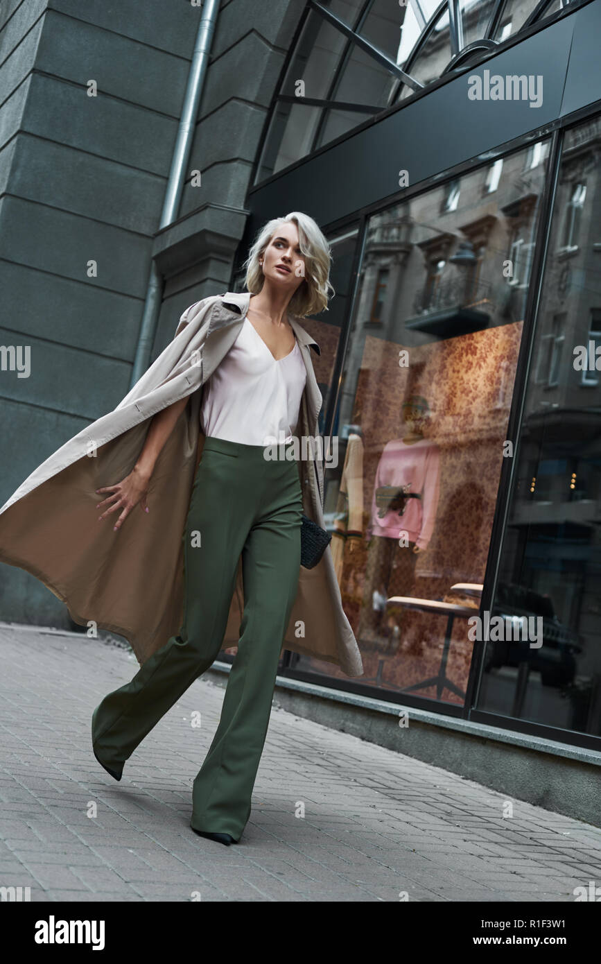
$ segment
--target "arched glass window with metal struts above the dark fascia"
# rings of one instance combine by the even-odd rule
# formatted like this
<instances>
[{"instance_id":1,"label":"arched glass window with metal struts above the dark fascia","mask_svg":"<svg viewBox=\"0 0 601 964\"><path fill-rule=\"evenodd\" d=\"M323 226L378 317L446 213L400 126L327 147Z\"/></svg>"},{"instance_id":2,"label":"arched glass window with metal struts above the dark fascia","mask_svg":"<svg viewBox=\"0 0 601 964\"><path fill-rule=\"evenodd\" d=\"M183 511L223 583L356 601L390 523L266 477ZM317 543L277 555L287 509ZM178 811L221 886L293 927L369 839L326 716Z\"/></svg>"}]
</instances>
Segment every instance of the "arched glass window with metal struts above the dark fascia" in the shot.
<instances>
[{"instance_id":1,"label":"arched glass window with metal struts above the dark fascia","mask_svg":"<svg viewBox=\"0 0 601 964\"><path fill-rule=\"evenodd\" d=\"M255 183L578 0L310 0Z\"/></svg>"}]
</instances>

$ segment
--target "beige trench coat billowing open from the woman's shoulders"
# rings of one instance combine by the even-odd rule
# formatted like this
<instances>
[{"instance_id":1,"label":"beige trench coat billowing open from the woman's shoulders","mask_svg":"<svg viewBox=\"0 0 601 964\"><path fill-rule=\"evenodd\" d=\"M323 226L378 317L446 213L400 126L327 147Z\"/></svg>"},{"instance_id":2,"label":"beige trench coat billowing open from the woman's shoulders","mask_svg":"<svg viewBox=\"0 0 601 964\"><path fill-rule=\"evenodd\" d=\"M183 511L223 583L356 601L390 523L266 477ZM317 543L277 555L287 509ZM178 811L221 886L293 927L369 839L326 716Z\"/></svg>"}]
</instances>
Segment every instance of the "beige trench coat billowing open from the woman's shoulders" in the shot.
<instances>
[{"instance_id":1,"label":"beige trench coat billowing open from the woman's shoulders","mask_svg":"<svg viewBox=\"0 0 601 964\"><path fill-rule=\"evenodd\" d=\"M117 408L65 442L19 486L0 509L0 561L39 578L82 626L124 636L142 664L176 635L183 618L182 534L204 435L201 391L235 341L249 292L215 295L181 315L165 351ZM310 357L319 346L290 316L307 379L299 434L318 435L322 405ZM133 469L152 415L188 396L165 443L140 506L116 532L111 517L97 522L95 490ZM299 462L303 511L324 526L323 459ZM320 493L316 489L316 471ZM244 587L242 559L223 646L238 642ZM300 568L299 588L282 649L335 663L351 677L363 666L344 613L331 550L311 570Z\"/></svg>"}]
</instances>

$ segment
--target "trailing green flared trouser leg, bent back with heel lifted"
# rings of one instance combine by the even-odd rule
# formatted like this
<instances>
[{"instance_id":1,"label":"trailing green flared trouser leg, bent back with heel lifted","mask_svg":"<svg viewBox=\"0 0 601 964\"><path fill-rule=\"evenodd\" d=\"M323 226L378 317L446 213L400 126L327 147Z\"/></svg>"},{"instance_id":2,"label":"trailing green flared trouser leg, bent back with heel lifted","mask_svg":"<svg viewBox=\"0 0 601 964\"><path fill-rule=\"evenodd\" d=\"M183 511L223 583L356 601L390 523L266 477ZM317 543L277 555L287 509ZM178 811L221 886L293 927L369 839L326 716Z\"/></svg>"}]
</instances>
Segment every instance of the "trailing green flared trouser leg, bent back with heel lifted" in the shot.
<instances>
[{"instance_id":1,"label":"trailing green flared trouser leg, bent back with heel lifted","mask_svg":"<svg viewBox=\"0 0 601 964\"><path fill-rule=\"evenodd\" d=\"M182 627L92 714L94 750L119 773L144 736L222 649L238 561L261 484L260 473L245 471L236 445L207 438L182 536Z\"/></svg>"}]
</instances>

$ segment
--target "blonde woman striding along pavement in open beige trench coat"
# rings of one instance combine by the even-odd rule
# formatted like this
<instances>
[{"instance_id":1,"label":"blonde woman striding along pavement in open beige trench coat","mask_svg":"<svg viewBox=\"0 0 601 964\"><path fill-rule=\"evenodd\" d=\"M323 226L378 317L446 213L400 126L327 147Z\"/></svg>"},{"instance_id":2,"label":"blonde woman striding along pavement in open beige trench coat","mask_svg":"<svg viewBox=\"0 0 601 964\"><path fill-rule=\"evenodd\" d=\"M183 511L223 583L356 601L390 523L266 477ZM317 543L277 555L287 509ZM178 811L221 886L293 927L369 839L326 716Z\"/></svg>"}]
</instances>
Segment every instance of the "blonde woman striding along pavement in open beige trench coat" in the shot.
<instances>
[{"instance_id":1,"label":"blonde woman striding along pavement in open beige trench coat","mask_svg":"<svg viewBox=\"0 0 601 964\"><path fill-rule=\"evenodd\" d=\"M115 779L228 635L237 641L193 788L192 828L223 844L248 821L282 645L362 673L329 550L300 575L302 511L325 524L323 465L316 459L314 475L285 458L298 427L316 431L309 346L319 348L294 314L327 307L329 260L311 218L269 222L248 257L248 293L187 308L115 412L66 442L0 510L0 559L38 576L76 622L125 635L142 663L92 714L93 752ZM273 438L284 442L270 461ZM103 497L92 531L94 492Z\"/></svg>"}]
</instances>

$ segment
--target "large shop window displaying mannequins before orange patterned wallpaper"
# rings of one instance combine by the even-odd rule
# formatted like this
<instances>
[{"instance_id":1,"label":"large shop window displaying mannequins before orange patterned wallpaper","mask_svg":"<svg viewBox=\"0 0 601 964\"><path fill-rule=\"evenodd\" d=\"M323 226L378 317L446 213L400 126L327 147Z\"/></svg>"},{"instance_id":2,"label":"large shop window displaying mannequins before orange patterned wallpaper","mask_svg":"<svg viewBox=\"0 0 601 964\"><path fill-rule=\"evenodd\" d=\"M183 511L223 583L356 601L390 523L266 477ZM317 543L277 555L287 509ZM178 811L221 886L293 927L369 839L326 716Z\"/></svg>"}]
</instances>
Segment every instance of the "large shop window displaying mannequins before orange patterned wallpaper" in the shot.
<instances>
[{"instance_id":1,"label":"large shop window displaying mannequins before orange patterned wallpaper","mask_svg":"<svg viewBox=\"0 0 601 964\"><path fill-rule=\"evenodd\" d=\"M544 164L524 174L526 153L504 157L493 193L483 166L450 182L450 205L449 183L438 184L370 218L326 472L360 682L456 705L545 180ZM293 665L341 676L310 657Z\"/></svg>"}]
</instances>

